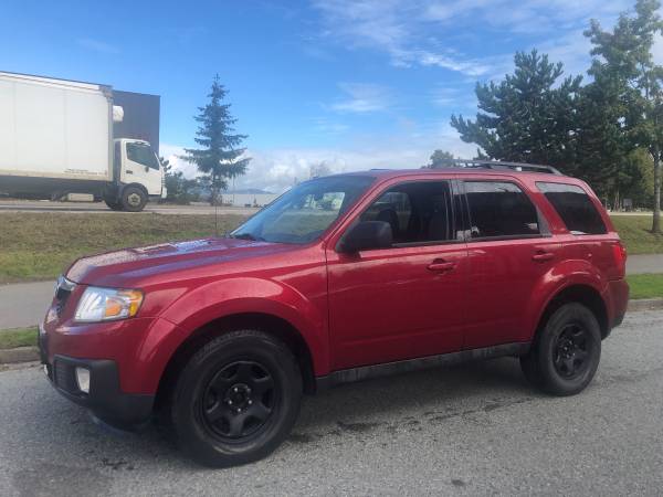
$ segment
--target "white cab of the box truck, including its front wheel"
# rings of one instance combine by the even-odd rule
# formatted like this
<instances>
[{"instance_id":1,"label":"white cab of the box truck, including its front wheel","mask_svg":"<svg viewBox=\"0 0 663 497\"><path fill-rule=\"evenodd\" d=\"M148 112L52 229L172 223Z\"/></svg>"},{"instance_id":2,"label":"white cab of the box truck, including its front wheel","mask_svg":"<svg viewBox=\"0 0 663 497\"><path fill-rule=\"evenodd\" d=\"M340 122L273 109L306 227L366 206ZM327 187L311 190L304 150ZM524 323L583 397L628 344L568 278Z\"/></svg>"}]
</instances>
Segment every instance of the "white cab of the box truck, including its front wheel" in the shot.
<instances>
[{"instance_id":1,"label":"white cab of the box truck, including its front wheel","mask_svg":"<svg viewBox=\"0 0 663 497\"><path fill-rule=\"evenodd\" d=\"M115 184L104 194L113 210L141 211L149 198L166 198L166 177L149 142L119 138L114 140Z\"/></svg>"}]
</instances>

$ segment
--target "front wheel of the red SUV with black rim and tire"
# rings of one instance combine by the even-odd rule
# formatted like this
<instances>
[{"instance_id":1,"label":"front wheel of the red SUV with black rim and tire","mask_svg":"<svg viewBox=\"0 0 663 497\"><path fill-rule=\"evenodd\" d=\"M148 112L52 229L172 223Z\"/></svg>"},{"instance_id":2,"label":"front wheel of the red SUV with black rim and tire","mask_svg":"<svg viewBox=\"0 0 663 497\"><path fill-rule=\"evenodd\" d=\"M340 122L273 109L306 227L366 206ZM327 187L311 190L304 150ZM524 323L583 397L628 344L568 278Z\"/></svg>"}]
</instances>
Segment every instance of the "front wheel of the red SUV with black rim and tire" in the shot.
<instances>
[{"instance_id":1,"label":"front wheel of the red SUV with black rim and tire","mask_svg":"<svg viewBox=\"0 0 663 497\"><path fill-rule=\"evenodd\" d=\"M262 331L232 331L204 345L180 373L175 435L206 466L257 461L288 435L301 398L302 374L284 343Z\"/></svg>"}]
</instances>

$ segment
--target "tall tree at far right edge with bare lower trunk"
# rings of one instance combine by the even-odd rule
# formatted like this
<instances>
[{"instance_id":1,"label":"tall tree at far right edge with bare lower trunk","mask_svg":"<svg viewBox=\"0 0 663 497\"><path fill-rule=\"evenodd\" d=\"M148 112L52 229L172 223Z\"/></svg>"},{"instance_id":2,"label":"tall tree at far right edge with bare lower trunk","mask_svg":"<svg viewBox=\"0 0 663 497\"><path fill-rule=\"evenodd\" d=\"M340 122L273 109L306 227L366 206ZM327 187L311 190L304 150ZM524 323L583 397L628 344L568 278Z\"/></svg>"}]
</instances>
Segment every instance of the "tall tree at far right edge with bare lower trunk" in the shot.
<instances>
[{"instance_id":1,"label":"tall tree at far right edge with bare lower trunk","mask_svg":"<svg viewBox=\"0 0 663 497\"><path fill-rule=\"evenodd\" d=\"M615 99L615 121L632 149L649 151L654 172L652 232L661 233L663 160L663 66L652 59L654 35L663 31L657 0L638 0L635 14L622 13L611 32L592 21L586 35L594 56L590 74Z\"/></svg>"}]
</instances>

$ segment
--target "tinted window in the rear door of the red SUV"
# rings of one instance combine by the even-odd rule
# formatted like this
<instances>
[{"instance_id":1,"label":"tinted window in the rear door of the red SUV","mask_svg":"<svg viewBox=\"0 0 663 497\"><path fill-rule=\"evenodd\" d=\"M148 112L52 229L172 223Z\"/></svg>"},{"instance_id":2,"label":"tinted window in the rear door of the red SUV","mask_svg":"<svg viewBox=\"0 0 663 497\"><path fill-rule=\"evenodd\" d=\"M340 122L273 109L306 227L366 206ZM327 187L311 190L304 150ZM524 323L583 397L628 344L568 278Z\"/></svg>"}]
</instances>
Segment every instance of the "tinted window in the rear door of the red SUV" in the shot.
<instances>
[{"instance_id":1,"label":"tinted window in the rear door of the red SUV","mask_svg":"<svg viewBox=\"0 0 663 497\"><path fill-rule=\"evenodd\" d=\"M536 236L536 208L516 184L507 181L465 181L472 239Z\"/></svg>"}]
</instances>

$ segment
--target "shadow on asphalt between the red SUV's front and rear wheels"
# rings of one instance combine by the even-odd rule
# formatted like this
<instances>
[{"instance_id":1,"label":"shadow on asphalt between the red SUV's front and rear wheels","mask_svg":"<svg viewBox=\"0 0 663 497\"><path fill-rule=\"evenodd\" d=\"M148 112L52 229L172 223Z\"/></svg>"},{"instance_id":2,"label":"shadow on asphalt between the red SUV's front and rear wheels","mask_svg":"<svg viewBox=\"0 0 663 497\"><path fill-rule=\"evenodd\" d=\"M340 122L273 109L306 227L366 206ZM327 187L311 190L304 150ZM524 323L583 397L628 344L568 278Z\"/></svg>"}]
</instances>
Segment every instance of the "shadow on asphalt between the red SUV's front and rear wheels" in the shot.
<instances>
[{"instance_id":1,"label":"shadow on asphalt between the red SUV's front and rear wheels","mask_svg":"<svg viewBox=\"0 0 663 497\"><path fill-rule=\"evenodd\" d=\"M513 358L427 369L339 385L306 398L291 438L301 440L302 433L324 436L379 426L393 430L490 412L538 396Z\"/></svg>"}]
</instances>

